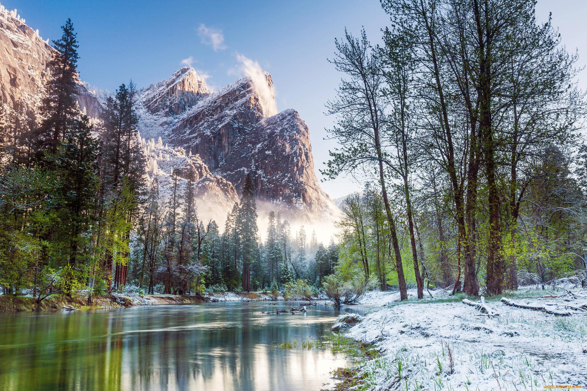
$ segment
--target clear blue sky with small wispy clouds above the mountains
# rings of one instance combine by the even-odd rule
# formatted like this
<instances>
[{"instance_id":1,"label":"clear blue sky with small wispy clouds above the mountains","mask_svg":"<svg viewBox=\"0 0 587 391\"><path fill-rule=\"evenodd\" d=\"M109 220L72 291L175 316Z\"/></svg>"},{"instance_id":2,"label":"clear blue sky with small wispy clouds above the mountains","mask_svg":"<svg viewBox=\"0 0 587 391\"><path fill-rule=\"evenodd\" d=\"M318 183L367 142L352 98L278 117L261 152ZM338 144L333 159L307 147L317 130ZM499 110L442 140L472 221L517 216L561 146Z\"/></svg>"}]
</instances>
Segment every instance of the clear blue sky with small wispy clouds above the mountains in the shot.
<instances>
[{"instance_id":1,"label":"clear blue sky with small wispy clouds above the mountains","mask_svg":"<svg viewBox=\"0 0 587 391\"><path fill-rule=\"evenodd\" d=\"M170 77L190 57L191 66L220 89L242 76L237 54L257 61L272 75L278 110L295 108L308 124L316 171L336 147L323 140L334 120L323 114L324 104L341 77L326 61L334 38L345 26L352 33L365 26L377 42L389 21L377 0L0 2L18 9L43 39L59 38L59 26L71 18L80 42L80 78L101 89L114 90L130 78L146 87ZM587 64L587 1L539 0L538 20L546 21L548 12L565 45L578 49L580 64ZM584 89L587 75L583 79ZM333 197L362 188L350 178L322 186Z\"/></svg>"}]
</instances>

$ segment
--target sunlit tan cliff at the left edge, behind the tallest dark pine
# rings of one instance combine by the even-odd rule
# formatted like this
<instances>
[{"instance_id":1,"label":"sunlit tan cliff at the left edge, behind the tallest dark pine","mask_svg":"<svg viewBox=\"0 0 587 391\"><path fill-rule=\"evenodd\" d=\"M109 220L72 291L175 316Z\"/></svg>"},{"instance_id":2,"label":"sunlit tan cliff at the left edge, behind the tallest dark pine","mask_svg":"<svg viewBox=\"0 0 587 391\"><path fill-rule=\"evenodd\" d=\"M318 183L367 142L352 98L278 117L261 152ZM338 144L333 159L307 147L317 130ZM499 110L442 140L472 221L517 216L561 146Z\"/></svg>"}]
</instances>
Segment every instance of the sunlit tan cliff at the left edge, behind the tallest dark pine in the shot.
<instances>
[{"instance_id":1,"label":"sunlit tan cliff at the left edge, behind the tallest dark pine","mask_svg":"<svg viewBox=\"0 0 587 391\"><path fill-rule=\"evenodd\" d=\"M38 30L25 25L16 10L0 5L0 104L38 106L53 50ZM77 101L90 117L97 117L99 103L81 83Z\"/></svg>"}]
</instances>

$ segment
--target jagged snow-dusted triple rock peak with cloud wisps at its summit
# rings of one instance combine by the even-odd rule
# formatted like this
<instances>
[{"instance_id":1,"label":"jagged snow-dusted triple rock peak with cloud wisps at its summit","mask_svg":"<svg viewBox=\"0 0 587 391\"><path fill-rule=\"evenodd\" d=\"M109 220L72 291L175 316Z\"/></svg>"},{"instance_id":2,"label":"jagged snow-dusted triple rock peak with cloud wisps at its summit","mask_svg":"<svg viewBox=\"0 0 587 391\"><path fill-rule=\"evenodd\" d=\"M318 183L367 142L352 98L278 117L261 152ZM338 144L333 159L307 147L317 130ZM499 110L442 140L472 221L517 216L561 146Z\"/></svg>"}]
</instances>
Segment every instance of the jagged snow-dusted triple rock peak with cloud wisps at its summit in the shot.
<instances>
[{"instance_id":1,"label":"jagged snow-dusted triple rock peak with cloud wisps at its summit","mask_svg":"<svg viewBox=\"0 0 587 391\"><path fill-rule=\"evenodd\" d=\"M186 76L193 81L184 82ZM205 84L193 69L180 69L171 79L142 92L149 113L144 118L158 122L170 145L199 155L239 194L250 171L258 200L271 203L289 218L330 215L336 206L316 177L308 127L295 110L275 114L271 75L262 76L263 86L245 77L219 91L204 92Z\"/></svg>"}]
</instances>

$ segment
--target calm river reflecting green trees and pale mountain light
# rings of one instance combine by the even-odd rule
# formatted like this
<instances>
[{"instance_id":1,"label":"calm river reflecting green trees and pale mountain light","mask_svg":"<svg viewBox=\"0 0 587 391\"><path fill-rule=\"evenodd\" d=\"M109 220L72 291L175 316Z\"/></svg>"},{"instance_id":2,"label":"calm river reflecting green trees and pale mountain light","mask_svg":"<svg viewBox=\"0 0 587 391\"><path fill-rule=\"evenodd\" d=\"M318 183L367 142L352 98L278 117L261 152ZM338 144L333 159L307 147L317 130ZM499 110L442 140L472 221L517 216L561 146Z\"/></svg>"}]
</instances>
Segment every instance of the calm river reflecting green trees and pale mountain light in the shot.
<instances>
[{"instance_id":1,"label":"calm river reflecting green trees and pale mountain light","mask_svg":"<svg viewBox=\"0 0 587 391\"><path fill-rule=\"evenodd\" d=\"M297 307L280 302L278 308ZM318 390L345 356L315 341L340 311L262 315L266 302L0 314L2 390Z\"/></svg>"}]
</instances>

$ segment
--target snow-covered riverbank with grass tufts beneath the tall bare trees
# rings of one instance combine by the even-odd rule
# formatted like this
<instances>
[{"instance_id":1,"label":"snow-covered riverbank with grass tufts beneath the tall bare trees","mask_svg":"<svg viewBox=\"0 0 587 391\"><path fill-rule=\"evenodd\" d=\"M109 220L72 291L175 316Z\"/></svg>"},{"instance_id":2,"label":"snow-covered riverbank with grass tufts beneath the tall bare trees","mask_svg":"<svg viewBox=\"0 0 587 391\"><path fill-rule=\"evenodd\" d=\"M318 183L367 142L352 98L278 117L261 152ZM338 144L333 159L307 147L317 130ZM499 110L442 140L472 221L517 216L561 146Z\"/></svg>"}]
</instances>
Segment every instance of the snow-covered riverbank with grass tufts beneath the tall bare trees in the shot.
<instances>
[{"instance_id":1,"label":"snow-covered riverbank with grass tufts beneath the tall bare trees","mask_svg":"<svg viewBox=\"0 0 587 391\"><path fill-rule=\"evenodd\" d=\"M577 290L574 290L577 293ZM555 317L544 312L488 305L489 318L460 300L394 302L397 293L372 292L362 300L379 305L350 328L348 336L374 344L381 356L360 366L359 390L525 390L587 385L587 312ZM507 295L527 304L587 304L587 291L532 298L544 291ZM524 296L524 297L517 297ZM579 311L580 312L580 311Z\"/></svg>"}]
</instances>

